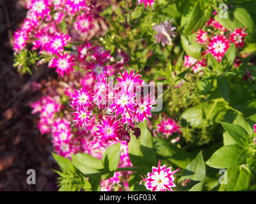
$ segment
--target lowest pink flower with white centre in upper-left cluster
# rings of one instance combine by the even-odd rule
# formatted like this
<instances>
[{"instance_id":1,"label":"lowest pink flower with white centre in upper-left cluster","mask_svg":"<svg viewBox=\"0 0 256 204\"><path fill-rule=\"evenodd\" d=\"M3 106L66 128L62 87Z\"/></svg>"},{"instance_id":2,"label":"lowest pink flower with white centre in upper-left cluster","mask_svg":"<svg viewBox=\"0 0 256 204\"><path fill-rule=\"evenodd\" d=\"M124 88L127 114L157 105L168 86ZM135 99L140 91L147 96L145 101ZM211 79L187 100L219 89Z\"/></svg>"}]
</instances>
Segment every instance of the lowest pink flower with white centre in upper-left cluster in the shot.
<instances>
[{"instance_id":1,"label":"lowest pink flower with white centre in upper-left cluster","mask_svg":"<svg viewBox=\"0 0 256 204\"><path fill-rule=\"evenodd\" d=\"M68 54L59 55L58 58L53 57L49 62L49 68L56 68L56 73L61 77L64 77L65 74L69 75L75 65L74 58Z\"/></svg>"}]
</instances>

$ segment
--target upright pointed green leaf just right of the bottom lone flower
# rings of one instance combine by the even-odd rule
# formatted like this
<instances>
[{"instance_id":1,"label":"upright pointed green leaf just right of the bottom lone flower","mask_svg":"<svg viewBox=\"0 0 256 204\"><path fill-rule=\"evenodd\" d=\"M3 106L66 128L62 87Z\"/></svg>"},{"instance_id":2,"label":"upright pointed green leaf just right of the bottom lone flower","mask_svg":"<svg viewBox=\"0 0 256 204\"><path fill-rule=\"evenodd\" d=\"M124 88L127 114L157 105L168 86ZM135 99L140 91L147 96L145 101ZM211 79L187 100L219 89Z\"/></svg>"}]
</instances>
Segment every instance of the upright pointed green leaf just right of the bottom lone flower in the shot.
<instances>
[{"instance_id":1,"label":"upright pointed green leaf just right of the bottom lone flower","mask_svg":"<svg viewBox=\"0 0 256 204\"><path fill-rule=\"evenodd\" d=\"M197 181L204 181L205 179L205 163L202 151L188 164L180 180L191 179ZM189 191L202 191L204 182L200 182L193 186Z\"/></svg>"}]
</instances>

